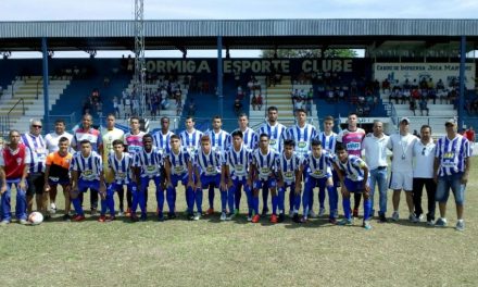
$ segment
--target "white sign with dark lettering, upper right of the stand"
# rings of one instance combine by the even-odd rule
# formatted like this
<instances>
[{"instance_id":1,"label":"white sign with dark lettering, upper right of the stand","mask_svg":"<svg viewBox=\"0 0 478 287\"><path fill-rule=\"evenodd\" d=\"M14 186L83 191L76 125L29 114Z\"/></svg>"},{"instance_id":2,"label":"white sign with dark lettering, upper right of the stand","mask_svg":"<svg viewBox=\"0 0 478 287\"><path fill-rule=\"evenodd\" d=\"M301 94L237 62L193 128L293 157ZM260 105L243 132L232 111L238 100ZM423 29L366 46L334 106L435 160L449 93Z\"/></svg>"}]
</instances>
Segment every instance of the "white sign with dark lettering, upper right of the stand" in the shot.
<instances>
[{"instance_id":1,"label":"white sign with dark lettering, upper right of the stand","mask_svg":"<svg viewBox=\"0 0 478 287\"><path fill-rule=\"evenodd\" d=\"M475 89L475 63L465 64L467 89ZM374 78L380 83L386 78L392 84L431 78L433 83L441 79L448 86L453 79L460 79L460 63L375 63L373 71Z\"/></svg>"}]
</instances>

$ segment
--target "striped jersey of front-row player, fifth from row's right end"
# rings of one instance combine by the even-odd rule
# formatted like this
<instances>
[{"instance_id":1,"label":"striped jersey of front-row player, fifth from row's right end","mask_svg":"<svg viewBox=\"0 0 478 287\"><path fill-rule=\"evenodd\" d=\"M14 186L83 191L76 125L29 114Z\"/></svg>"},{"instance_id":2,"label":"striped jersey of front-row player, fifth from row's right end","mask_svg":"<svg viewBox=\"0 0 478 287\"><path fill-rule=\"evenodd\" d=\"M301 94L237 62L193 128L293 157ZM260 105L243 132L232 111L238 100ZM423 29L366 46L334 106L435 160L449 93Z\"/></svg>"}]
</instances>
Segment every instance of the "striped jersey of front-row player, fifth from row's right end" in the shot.
<instances>
[{"instance_id":1,"label":"striped jersey of front-row player, fifth from row's right end","mask_svg":"<svg viewBox=\"0 0 478 287\"><path fill-rule=\"evenodd\" d=\"M247 179L251 151L242 145L239 151L231 146L224 154L224 164L229 166L232 179Z\"/></svg>"}]
</instances>

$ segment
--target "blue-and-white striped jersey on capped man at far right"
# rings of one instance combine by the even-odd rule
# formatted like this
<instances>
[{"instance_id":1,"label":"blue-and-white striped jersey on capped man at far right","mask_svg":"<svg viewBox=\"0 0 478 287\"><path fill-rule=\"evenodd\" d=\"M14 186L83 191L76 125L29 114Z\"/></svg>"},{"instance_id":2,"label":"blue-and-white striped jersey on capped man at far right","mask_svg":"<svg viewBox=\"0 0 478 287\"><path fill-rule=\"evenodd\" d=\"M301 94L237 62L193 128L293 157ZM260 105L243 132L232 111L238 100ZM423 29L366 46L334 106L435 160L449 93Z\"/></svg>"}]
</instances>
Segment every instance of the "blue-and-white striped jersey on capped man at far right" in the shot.
<instances>
[{"instance_id":1,"label":"blue-and-white striped jersey on capped man at far right","mask_svg":"<svg viewBox=\"0 0 478 287\"><path fill-rule=\"evenodd\" d=\"M465 159L471 155L469 141L457 134L454 139L446 136L438 139L435 157L440 161L439 176L465 172Z\"/></svg>"}]
</instances>

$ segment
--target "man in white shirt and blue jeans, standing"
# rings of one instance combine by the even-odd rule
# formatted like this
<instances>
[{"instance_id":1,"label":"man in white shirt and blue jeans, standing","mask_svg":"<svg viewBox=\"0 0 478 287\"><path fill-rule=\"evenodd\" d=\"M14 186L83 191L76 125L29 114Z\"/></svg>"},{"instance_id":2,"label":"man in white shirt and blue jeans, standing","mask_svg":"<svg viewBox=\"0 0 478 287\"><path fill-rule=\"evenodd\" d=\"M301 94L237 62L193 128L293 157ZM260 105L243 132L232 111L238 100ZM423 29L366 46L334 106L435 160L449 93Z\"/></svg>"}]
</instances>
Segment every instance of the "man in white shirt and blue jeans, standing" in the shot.
<instances>
[{"instance_id":1,"label":"man in white shirt and blue jeans, standing","mask_svg":"<svg viewBox=\"0 0 478 287\"><path fill-rule=\"evenodd\" d=\"M383 123L374 122L374 133L367 134L362 141L362 150L365 151L365 162L370 170L370 199L372 213L374 216L374 195L375 185L378 186L379 194L379 221L387 222L387 145L389 136L383 134Z\"/></svg>"}]
</instances>

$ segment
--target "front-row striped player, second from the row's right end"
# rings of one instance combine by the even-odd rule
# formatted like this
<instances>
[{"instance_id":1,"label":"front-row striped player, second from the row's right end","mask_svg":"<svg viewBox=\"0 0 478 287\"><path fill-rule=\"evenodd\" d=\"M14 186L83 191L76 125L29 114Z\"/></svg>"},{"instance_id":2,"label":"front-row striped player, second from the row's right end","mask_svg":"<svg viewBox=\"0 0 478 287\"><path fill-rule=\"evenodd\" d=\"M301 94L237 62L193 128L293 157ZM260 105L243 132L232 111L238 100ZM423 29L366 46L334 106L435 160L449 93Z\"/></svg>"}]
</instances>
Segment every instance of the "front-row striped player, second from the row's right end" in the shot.
<instances>
[{"instance_id":1,"label":"front-row striped player, second from the row's right end","mask_svg":"<svg viewBox=\"0 0 478 287\"><path fill-rule=\"evenodd\" d=\"M312 140L312 153L307 154L304 159L303 165L305 171L305 186L304 186L304 195L303 195L303 208L304 208L304 216L301 222L307 221L307 215L310 211L310 195L313 192L315 187L319 188L319 195L325 192L327 189L328 198L329 198L329 222L331 224L336 224L336 212L337 210L337 201L336 189L332 183L332 173L331 165L334 162L334 155L329 152L325 151L322 148L322 142L319 140ZM295 213L297 214L297 213ZM295 220L297 220L295 215Z\"/></svg>"}]
</instances>

